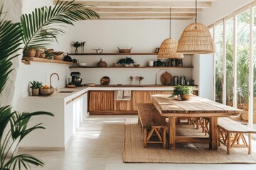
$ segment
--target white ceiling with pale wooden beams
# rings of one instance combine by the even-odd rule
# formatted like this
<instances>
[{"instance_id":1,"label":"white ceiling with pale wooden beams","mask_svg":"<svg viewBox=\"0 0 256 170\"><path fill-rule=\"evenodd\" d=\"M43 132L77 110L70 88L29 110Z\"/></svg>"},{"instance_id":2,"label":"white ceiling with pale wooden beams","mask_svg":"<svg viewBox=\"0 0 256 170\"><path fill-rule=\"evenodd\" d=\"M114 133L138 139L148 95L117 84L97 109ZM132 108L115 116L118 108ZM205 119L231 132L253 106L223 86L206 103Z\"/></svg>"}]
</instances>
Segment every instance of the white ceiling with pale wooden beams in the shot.
<instances>
[{"instance_id":1,"label":"white ceiling with pale wooden beams","mask_svg":"<svg viewBox=\"0 0 256 170\"><path fill-rule=\"evenodd\" d=\"M204 8L210 8L213 1L198 0L198 13ZM161 19L169 20L170 7L171 19L192 20L195 17L196 0L80 0L94 6L92 9L100 14L102 20L143 20Z\"/></svg>"}]
</instances>

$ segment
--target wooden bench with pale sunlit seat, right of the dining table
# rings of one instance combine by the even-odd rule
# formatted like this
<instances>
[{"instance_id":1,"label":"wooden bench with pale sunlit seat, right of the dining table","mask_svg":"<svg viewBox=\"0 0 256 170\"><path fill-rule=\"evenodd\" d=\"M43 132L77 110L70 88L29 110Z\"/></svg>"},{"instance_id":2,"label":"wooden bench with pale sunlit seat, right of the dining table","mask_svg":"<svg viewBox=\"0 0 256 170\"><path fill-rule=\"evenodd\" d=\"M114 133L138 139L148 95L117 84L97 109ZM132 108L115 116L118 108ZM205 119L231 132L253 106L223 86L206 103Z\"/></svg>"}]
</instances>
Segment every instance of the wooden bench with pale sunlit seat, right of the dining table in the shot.
<instances>
[{"instance_id":1,"label":"wooden bench with pale sunlit seat, right of the dining table","mask_svg":"<svg viewBox=\"0 0 256 170\"><path fill-rule=\"evenodd\" d=\"M248 144L245 140L245 133L248 134ZM230 118L218 118L218 145L220 146L220 143L223 143L227 146L227 154L230 154L232 147L247 147L248 154L251 154L251 133L256 133L256 130L252 130ZM241 144L240 141L242 141Z\"/></svg>"}]
</instances>

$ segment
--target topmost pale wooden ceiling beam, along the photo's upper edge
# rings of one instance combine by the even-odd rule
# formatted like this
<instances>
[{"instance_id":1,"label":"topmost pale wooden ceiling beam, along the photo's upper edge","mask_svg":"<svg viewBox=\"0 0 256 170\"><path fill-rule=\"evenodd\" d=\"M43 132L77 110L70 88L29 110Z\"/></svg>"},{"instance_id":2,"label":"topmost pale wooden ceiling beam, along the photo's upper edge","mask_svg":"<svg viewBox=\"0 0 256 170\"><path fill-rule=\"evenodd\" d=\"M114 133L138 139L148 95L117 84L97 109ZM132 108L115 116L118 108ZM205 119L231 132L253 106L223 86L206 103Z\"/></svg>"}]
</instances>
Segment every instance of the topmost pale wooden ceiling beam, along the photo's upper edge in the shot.
<instances>
[{"instance_id":1,"label":"topmost pale wooden ceiling beam, along the photo's upper edge","mask_svg":"<svg viewBox=\"0 0 256 170\"><path fill-rule=\"evenodd\" d=\"M56 3L56 1L54 1ZM173 8L195 8L194 1L75 1L76 3L83 3L91 6L143 6L143 7L166 7ZM210 8L210 1L199 1L198 8Z\"/></svg>"}]
</instances>

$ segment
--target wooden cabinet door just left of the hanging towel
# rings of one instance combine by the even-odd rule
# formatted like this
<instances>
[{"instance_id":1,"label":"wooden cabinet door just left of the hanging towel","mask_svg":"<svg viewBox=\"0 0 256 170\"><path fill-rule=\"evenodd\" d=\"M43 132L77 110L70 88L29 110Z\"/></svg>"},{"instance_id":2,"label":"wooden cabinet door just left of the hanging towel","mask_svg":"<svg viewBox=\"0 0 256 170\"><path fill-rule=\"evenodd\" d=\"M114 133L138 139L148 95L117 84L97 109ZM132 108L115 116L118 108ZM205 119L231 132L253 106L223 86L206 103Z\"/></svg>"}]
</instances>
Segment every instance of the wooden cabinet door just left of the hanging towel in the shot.
<instances>
[{"instance_id":1,"label":"wooden cabinet door just left of the hanging towel","mask_svg":"<svg viewBox=\"0 0 256 170\"><path fill-rule=\"evenodd\" d=\"M90 91L90 111L114 111L114 91Z\"/></svg>"}]
</instances>

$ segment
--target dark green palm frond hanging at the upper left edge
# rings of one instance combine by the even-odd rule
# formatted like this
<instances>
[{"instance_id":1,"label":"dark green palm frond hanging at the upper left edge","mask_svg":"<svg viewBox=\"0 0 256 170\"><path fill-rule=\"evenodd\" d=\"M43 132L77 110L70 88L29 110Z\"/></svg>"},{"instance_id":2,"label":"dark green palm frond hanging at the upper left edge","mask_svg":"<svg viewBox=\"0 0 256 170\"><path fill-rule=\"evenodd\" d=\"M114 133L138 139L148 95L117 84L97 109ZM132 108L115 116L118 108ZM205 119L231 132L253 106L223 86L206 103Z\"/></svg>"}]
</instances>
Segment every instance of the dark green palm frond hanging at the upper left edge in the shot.
<instances>
[{"instance_id":1,"label":"dark green palm frond hanging at the upper left edge","mask_svg":"<svg viewBox=\"0 0 256 170\"><path fill-rule=\"evenodd\" d=\"M0 93L11 72L11 59L20 48L22 31L19 23L4 20L3 6L0 8Z\"/></svg>"}]
</instances>

